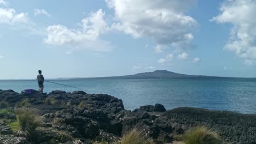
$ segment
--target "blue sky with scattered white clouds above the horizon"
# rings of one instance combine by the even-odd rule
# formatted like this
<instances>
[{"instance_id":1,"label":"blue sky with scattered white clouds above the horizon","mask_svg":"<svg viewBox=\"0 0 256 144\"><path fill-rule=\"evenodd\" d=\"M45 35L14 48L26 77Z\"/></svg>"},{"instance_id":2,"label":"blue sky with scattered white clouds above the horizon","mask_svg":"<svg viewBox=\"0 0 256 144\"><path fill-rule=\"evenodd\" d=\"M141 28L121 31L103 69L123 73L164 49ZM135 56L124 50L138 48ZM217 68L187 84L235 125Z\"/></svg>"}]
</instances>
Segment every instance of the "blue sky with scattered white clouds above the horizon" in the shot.
<instances>
[{"instance_id":1,"label":"blue sky with scattered white clouds above the horizon","mask_svg":"<svg viewBox=\"0 0 256 144\"><path fill-rule=\"evenodd\" d=\"M256 77L254 0L0 0L0 79Z\"/></svg>"}]
</instances>

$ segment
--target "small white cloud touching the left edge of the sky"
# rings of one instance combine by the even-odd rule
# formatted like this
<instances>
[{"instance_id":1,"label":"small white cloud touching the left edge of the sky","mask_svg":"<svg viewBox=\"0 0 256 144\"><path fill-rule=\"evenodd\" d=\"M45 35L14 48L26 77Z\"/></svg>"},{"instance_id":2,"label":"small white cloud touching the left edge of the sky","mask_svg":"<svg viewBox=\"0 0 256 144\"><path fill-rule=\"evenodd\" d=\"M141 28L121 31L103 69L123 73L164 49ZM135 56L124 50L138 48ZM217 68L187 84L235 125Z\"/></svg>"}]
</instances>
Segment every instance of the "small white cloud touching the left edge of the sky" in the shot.
<instances>
[{"instance_id":1,"label":"small white cloud touching the left edge of the sky","mask_svg":"<svg viewBox=\"0 0 256 144\"><path fill-rule=\"evenodd\" d=\"M29 19L25 13L16 13L15 9L0 8L0 23L15 25L17 23L28 23Z\"/></svg>"}]
</instances>

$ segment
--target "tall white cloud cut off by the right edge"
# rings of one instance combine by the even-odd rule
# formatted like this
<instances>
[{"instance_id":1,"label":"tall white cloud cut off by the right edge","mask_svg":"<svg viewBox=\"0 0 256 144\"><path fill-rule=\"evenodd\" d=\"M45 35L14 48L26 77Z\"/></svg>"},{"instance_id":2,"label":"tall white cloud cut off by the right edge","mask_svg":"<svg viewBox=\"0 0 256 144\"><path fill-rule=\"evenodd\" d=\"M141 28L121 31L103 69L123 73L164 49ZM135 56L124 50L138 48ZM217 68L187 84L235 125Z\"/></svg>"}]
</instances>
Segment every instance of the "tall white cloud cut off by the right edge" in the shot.
<instances>
[{"instance_id":1,"label":"tall white cloud cut off by the right edge","mask_svg":"<svg viewBox=\"0 0 256 144\"><path fill-rule=\"evenodd\" d=\"M242 58L256 59L255 9L256 1L226 0L220 7L221 13L211 20L232 24L229 42L224 49Z\"/></svg>"}]
</instances>

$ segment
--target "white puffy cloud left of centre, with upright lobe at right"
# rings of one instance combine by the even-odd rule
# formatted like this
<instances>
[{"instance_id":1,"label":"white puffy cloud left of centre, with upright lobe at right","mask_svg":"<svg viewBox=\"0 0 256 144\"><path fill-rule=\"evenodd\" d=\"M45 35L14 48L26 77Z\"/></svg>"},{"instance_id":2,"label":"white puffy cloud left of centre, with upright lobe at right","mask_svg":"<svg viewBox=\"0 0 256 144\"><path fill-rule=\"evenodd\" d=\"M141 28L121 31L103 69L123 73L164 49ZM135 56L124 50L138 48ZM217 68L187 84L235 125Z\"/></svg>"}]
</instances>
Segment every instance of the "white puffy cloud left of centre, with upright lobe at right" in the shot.
<instances>
[{"instance_id":1,"label":"white puffy cloud left of centre, with upright lobe at right","mask_svg":"<svg viewBox=\"0 0 256 144\"><path fill-rule=\"evenodd\" d=\"M69 29L62 25L53 25L47 28L48 37L44 39L50 45L68 45L92 51L108 51L108 41L98 40L101 34L108 31L104 20L104 12L99 9L82 20L80 29Z\"/></svg>"}]
</instances>

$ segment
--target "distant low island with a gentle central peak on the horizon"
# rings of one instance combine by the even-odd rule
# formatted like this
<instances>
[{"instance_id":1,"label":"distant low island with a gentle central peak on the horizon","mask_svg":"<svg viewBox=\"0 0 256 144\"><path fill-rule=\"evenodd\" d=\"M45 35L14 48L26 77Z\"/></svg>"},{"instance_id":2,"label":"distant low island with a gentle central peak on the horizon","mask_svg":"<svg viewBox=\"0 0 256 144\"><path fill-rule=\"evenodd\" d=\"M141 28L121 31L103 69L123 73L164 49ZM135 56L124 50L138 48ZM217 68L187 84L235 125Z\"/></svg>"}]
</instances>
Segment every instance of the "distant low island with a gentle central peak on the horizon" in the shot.
<instances>
[{"instance_id":1,"label":"distant low island with a gentle central peak on the horizon","mask_svg":"<svg viewBox=\"0 0 256 144\"><path fill-rule=\"evenodd\" d=\"M205 76L205 75L185 75L173 73L167 70L155 70L153 72L138 73L135 75L125 76L109 76L109 77L91 77L91 78L72 78L72 79L178 79L178 78L210 78L217 76Z\"/></svg>"}]
</instances>

